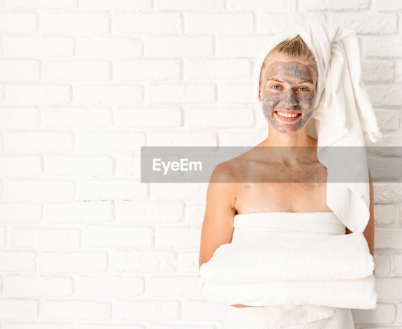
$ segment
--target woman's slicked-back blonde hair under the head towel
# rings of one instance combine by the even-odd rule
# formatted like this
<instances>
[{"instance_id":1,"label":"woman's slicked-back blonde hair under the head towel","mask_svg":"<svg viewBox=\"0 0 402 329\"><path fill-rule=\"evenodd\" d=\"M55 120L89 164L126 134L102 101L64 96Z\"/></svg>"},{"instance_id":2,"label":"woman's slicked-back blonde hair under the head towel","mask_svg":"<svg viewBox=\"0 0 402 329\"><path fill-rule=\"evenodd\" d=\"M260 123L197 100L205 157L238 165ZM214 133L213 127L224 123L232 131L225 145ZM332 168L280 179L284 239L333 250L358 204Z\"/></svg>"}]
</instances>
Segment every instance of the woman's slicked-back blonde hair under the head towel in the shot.
<instances>
[{"instance_id":1,"label":"woman's slicked-back blonde hair under the head towel","mask_svg":"<svg viewBox=\"0 0 402 329\"><path fill-rule=\"evenodd\" d=\"M265 60L260 70L260 84L258 91L261 90L261 84L263 83L262 73L263 70L265 70L267 63L269 62L269 59L271 57L280 55L285 56L289 59L297 58L300 60L306 60L308 62L308 65L313 69L313 71L316 73L316 76L318 77L317 63L316 60L314 59L314 54L307 47L306 43L304 43L304 41L301 39L300 35L296 35L293 39L279 43L279 45L275 46L275 48L273 48L265 57Z\"/></svg>"}]
</instances>

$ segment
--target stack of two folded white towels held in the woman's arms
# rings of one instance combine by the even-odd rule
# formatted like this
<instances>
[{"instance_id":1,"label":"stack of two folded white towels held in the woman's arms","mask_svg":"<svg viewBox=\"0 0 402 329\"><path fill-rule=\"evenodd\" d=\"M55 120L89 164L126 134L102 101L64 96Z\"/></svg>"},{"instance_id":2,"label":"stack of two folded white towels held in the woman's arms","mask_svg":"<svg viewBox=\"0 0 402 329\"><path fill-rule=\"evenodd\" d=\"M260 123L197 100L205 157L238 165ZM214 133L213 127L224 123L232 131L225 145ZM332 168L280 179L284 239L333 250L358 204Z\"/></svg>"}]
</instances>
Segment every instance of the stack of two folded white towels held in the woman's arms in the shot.
<instances>
[{"instance_id":1,"label":"stack of two folded white towels held in the woman's arms","mask_svg":"<svg viewBox=\"0 0 402 329\"><path fill-rule=\"evenodd\" d=\"M221 245L199 269L205 300L371 309L374 261L363 233Z\"/></svg>"}]
</instances>

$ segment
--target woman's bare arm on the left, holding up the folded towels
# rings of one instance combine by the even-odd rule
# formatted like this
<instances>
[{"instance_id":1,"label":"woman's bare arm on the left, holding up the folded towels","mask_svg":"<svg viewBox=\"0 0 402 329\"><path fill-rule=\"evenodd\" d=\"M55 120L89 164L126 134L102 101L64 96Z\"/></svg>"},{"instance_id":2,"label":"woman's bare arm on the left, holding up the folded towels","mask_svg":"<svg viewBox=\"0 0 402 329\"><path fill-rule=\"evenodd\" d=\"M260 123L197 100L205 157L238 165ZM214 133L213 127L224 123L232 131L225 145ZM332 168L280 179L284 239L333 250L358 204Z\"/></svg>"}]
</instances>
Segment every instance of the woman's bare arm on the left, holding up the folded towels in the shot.
<instances>
[{"instance_id":1,"label":"woman's bare arm on the left, holding up the folded towels","mask_svg":"<svg viewBox=\"0 0 402 329\"><path fill-rule=\"evenodd\" d=\"M229 167L224 162L220 163L213 170L207 189L207 203L201 228L199 267L212 258L219 246L232 242L236 197L234 184L227 183L228 181L230 181ZM231 306L253 307L242 304Z\"/></svg>"}]
</instances>

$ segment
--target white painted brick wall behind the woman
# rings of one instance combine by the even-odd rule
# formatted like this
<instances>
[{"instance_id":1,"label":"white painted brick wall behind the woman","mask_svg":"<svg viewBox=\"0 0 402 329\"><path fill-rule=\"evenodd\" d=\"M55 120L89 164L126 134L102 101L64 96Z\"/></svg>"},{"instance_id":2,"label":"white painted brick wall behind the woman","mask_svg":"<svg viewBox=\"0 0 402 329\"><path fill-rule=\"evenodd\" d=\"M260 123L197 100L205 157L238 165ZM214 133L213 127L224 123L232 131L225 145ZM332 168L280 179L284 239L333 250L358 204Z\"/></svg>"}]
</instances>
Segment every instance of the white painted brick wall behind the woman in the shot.
<instances>
[{"instance_id":1,"label":"white painted brick wall behind the woman","mask_svg":"<svg viewBox=\"0 0 402 329\"><path fill-rule=\"evenodd\" d=\"M265 138L252 68L302 19L354 29L401 146L395 0L0 0L0 329L219 329L198 253L206 183L140 183L140 146ZM374 154L374 310L402 328L402 152Z\"/></svg>"}]
</instances>

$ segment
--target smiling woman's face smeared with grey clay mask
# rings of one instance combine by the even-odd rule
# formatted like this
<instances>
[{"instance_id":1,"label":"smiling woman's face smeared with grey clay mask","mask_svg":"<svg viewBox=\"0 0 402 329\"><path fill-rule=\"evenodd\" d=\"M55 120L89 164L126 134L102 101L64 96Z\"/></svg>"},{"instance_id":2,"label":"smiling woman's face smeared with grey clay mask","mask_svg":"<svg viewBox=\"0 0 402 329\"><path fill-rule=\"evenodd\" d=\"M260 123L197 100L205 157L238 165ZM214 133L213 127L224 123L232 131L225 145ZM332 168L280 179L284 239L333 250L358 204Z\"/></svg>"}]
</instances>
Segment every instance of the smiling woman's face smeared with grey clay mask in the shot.
<instances>
[{"instance_id":1,"label":"smiling woman's face smeared with grey clay mask","mask_svg":"<svg viewBox=\"0 0 402 329\"><path fill-rule=\"evenodd\" d=\"M317 76L308 62L272 58L265 70L260 91L267 121L279 132L287 134L304 127L313 115L316 81ZM282 116L290 112L299 114L293 118Z\"/></svg>"}]
</instances>

